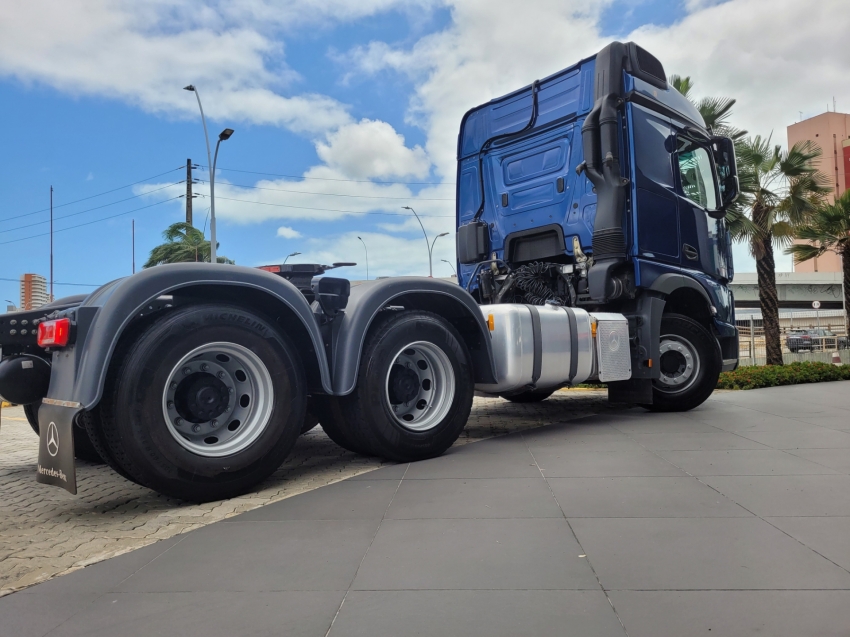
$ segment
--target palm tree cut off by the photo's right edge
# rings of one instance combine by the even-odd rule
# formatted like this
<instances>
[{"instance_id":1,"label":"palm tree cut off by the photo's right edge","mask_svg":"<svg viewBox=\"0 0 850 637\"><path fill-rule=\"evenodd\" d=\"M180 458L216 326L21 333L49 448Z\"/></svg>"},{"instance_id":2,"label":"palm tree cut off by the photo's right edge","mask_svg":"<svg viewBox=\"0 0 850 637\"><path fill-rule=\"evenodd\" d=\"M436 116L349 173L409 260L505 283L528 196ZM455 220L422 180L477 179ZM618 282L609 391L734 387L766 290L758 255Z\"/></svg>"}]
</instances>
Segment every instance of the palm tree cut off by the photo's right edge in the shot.
<instances>
[{"instance_id":1,"label":"palm tree cut off by the photo's right edge","mask_svg":"<svg viewBox=\"0 0 850 637\"><path fill-rule=\"evenodd\" d=\"M793 254L797 263L819 257L826 252L841 256L844 273L844 307L850 310L850 190L835 203L819 207L808 223L797 228L796 237L810 243L790 246L785 252ZM847 334L850 318L844 317Z\"/></svg>"}]
</instances>

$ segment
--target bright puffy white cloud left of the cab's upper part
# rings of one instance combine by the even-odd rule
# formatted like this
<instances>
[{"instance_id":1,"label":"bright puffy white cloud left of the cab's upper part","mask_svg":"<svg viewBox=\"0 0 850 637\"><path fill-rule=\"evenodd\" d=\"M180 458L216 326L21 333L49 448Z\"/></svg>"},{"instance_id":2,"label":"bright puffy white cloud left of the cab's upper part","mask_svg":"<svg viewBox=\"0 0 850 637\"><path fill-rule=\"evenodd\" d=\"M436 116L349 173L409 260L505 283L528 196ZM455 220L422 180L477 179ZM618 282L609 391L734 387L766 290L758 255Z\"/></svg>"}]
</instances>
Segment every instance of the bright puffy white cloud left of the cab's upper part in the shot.
<instances>
[{"instance_id":1,"label":"bright puffy white cloud left of the cab's upper part","mask_svg":"<svg viewBox=\"0 0 850 637\"><path fill-rule=\"evenodd\" d=\"M408 148L392 126L370 119L329 133L316 152L332 169L355 179L424 178L431 166L421 146Z\"/></svg>"}]
</instances>

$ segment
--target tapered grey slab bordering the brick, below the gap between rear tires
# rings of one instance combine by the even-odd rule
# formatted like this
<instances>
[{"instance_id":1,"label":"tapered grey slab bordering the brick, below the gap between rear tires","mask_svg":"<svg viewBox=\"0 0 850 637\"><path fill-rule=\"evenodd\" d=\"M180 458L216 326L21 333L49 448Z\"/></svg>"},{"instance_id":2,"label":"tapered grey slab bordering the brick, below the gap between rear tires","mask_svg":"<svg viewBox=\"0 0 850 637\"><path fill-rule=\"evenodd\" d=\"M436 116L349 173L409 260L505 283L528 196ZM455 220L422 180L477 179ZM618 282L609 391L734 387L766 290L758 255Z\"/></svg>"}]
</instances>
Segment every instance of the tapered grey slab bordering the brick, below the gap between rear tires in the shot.
<instances>
[{"instance_id":1,"label":"tapered grey slab bordering the brick, below the gap between rear tires","mask_svg":"<svg viewBox=\"0 0 850 637\"><path fill-rule=\"evenodd\" d=\"M346 480L254 509L231 520L380 520L398 486L399 480Z\"/></svg>"}]
</instances>

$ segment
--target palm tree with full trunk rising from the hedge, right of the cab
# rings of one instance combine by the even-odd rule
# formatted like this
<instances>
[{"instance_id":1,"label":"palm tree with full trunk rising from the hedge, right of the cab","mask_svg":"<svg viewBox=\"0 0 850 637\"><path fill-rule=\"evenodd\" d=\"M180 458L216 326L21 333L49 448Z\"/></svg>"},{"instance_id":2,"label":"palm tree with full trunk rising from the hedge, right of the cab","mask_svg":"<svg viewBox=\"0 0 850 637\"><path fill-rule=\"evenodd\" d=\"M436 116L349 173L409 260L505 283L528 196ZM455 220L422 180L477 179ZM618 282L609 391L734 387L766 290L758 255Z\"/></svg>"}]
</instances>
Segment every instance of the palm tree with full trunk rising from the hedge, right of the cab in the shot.
<instances>
[{"instance_id":1,"label":"palm tree with full trunk rising from the hedge, right of the cab","mask_svg":"<svg viewBox=\"0 0 850 637\"><path fill-rule=\"evenodd\" d=\"M823 203L829 188L815 166L821 150L811 141L782 150L771 145L769 137L756 135L739 141L736 152L743 205L751 222L739 237L749 241L756 260L767 364L782 365L773 246L789 245L796 229Z\"/></svg>"}]
</instances>

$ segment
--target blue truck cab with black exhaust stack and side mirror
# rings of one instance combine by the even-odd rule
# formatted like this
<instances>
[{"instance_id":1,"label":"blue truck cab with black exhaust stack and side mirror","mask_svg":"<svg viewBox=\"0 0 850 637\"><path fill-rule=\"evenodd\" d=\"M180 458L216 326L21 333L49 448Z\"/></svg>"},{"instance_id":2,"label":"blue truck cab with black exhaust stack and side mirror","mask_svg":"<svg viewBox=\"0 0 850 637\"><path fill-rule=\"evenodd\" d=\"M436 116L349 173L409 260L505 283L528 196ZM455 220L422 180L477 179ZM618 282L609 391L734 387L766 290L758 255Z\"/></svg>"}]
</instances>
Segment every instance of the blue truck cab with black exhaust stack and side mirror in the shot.
<instances>
[{"instance_id":1,"label":"blue truck cab with black exhaust stack and side mirror","mask_svg":"<svg viewBox=\"0 0 850 637\"><path fill-rule=\"evenodd\" d=\"M737 365L734 146L650 53L614 42L473 108L457 155L459 281L480 303L622 312L633 376L609 389L641 402L683 362L659 338L665 315L710 333L720 369Z\"/></svg>"}]
</instances>

